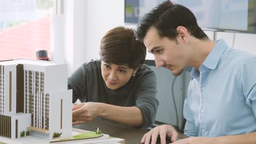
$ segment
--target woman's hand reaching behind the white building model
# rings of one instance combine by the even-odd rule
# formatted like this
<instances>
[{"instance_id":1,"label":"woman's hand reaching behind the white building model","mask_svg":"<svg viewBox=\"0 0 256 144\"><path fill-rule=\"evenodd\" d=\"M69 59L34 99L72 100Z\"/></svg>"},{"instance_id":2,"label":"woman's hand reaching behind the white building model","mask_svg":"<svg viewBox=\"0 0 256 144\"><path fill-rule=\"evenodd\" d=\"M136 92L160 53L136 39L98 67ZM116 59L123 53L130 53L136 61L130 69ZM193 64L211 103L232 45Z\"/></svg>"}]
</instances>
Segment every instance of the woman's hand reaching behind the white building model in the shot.
<instances>
[{"instance_id":1,"label":"woman's hand reaching behind the white building model","mask_svg":"<svg viewBox=\"0 0 256 144\"><path fill-rule=\"evenodd\" d=\"M100 115L100 109L97 103L88 102L72 106L72 124L91 122Z\"/></svg>"}]
</instances>

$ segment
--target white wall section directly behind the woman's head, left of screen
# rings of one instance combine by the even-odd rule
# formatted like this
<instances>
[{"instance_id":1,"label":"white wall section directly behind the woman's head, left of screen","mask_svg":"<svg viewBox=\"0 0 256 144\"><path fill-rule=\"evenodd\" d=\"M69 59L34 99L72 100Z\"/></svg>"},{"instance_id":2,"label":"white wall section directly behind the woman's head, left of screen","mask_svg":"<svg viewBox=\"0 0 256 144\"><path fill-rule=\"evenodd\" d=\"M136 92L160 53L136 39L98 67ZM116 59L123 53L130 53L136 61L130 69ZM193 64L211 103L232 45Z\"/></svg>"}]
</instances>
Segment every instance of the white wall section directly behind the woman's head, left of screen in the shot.
<instances>
[{"instance_id":1,"label":"white wall section directly behind the woman's head, left of screen","mask_svg":"<svg viewBox=\"0 0 256 144\"><path fill-rule=\"evenodd\" d=\"M87 0L85 60L100 58L100 42L110 29L124 25L124 0Z\"/></svg>"}]
</instances>

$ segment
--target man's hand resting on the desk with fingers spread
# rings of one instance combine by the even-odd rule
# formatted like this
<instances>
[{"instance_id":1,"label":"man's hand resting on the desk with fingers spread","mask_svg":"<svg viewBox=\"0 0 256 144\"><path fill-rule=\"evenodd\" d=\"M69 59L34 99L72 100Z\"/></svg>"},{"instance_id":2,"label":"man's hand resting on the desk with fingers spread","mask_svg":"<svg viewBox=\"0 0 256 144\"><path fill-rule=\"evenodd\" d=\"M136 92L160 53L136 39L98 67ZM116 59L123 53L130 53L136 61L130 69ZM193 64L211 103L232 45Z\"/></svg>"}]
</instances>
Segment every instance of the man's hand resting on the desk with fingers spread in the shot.
<instances>
[{"instance_id":1,"label":"man's hand resting on the desk with fingers spread","mask_svg":"<svg viewBox=\"0 0 256 144\"><path fill-rule=\"evenodd\" d=\"M172 125L164 124L155 127L150 130L148 133L144 134L141 139L141 143L149 144L150 139L152 139L151 143L155 144L156 139L158 139L158 135L160 135L161 143L166 143L165 139L168 136L172 142L178 140L178 132L175 130Z\"/></svg>"}]
</instances>

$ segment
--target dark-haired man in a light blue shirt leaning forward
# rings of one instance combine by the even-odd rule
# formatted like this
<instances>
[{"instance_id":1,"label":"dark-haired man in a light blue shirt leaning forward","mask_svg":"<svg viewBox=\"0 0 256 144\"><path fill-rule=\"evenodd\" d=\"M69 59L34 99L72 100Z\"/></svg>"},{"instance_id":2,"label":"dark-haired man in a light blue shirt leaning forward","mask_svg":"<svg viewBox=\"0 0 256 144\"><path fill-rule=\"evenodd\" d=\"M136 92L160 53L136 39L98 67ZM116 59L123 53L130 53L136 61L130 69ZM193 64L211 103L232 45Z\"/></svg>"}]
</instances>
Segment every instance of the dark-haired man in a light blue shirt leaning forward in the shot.
<instances>
[{"instance_id":1,"label":"dark-haired man in a light blue shirt leaning forward","mask_svg":"<svg viewBox=\"0 0 256 144\"><path fill-rule=\"evenodd\" d=\"M140 20L135 34L153 53L157 67L173 75L192 66L184 135L160 125L142 143L256 143L256 57L216 42L197 25L188 8L166 1Z\"/></svg>"}]
</instances>

